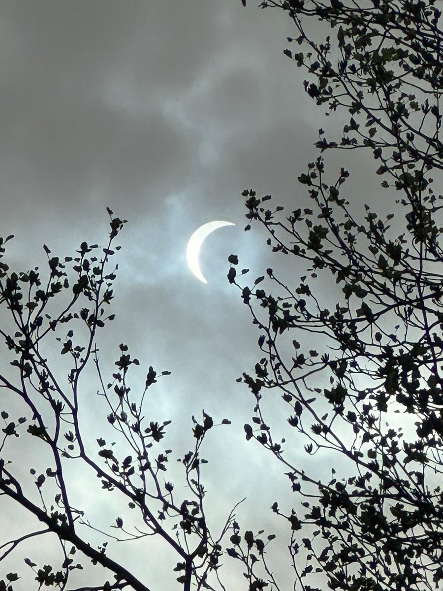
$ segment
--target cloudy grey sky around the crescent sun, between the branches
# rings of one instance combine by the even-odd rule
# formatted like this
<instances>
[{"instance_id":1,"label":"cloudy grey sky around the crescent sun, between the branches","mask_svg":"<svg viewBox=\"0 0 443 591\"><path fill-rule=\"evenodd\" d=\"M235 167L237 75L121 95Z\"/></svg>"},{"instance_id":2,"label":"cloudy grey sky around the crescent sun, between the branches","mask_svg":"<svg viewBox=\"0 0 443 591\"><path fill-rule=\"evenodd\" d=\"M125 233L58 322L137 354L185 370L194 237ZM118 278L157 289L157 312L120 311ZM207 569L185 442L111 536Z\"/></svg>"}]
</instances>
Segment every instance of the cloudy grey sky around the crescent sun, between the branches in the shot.
<instances>
[{"instance_id":1,"label":"cloudy grey sky around the crescent sun, between the branches","mask_svg":"<svg viewBox=\"0 0 443 591\"><path fill-rule=\"evenodd\" d=\"M258 333L227 281L227 256L263 274L266 236L243 231L242 190L307 206L297 176L317 157L318 129L328 125L302 88L304 73L283 54L292 21L257 4L0 2L0 235L15 235L8 261L26 269L44 263L43 243L60 255L83 240L103 243L106 206L128 220L119 238L117 319L102 354L113 360L112 340L126 342L143 371L172 372L158 385L156 408L158 418L174 420L177 455L191 444L182 444L191 414L205 408L233 421L206 454L208 481L225 513L256 491L259 505L247 500L242 509L244 527L248 516L268 524L272 516L260 512L276 500L271 481L287 479L244 440L253 401L235 379L256 362ZM374 163L346 158L348 186L358 187L361 203ZM340 163L340 155L328 161ZM236 226L205 242L204 285L188 270L185 248L198 226L217 219ZM228 478L239 466L242 474ZM161 561L144 569L146 584L172 588L160 583Z\"/></svg>"}]
</instances>

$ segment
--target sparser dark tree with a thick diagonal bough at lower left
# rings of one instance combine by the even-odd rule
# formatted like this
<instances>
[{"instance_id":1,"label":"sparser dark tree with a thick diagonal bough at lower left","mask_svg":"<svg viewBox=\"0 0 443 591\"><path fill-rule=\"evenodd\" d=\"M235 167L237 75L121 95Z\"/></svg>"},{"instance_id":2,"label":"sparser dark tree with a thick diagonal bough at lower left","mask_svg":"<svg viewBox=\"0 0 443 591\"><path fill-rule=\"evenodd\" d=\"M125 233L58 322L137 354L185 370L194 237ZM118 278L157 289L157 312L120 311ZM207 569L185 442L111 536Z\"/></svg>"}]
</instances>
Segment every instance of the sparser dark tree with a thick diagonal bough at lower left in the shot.
<instances>
[{"instance_id":1,"label":"sparser dark tree with a thick diagonal bough at lower left","mask_svg":"<svg viewBox=\"0 0 443 591\"><path fill-rule=\"evenodd\" d=\"M112 285L118 265L112 270L109 265L120 248L113 243L125 223L113 217L110 209L108 213L111 231L106 248L83 242L74 258L68 256L62 260L44 245L48 256L47 277L38 268L11 272L8 265L0 262L0 305L7 308L12 320L9 327L6 320L3 321L0 335L14 358L8 369L8 352L2 352L0 386L4 427L0 442L0 495L14 501L17 511L21 506L28 515L25 525L40 521L45 526L43 530L29 527L28 531L2 544L0 561L12 552L17 553L19 546L30 538L56 534L60 541L60 557L54 559L54 563L37 564L32 557L25 558L25 568L35 573L36 588L67 589L70 574L83 569L85 559L89 559L105 569L103 578L107 574L113 579L101 586L80 586L79 589L150 589L125 568L124 561L113 560L106 554L108 541L98 548L90 545L87 528L100 531L94 524L97 516L90 517L70 500L76 488L90 486L89 473L100 479L102 489L119 493L121 503L125 502L136 513L138 525L135 526L126 526L122 517L110 515L110 527L115 534L110 535L111 530L108 530L102 532L103 535L114 540L162 538L177 553L174 570L181 587L188 590L194 581L198 589L211 589L213 587L206 581L211 571L217 571L222 553L220 540L233 527L231 514L220 536L213 538L204 514L205 491L200 467L206 460L201 457L200 448L214 421L204 411L201 423L193 417L194 448L178 459L183 465L183 483L187 485L189 496L180 498L174 491L174 484L166 480L172 450L165 449L163 440L171 421L158 423L151 420L149 414L145 415L149 389L155 388L159 377L170 372L158 375L150 366L144 388L132 391L129 374L139 361L123 343L118 348L116 369L109 381L101 369L97 333L114 319L114 314L106 313L106 308L113 298ZM0 239L0 256L11 238ZM59 343L58 352L53 350L47 358L45 346L51 339ZM67 379L58 366L58 353L69 359ZM97 401L103 402L99 407L102 414L97 416L97 429L100 418L106 421L107 417L109 437L106 439L99 433L90 434L84 426L82 428L84 418L80 420L85 411L91 413L92 401L85 400L82 382L91 363L95 365L100 385ZM90 374L87 375L85 379L90 380ZM11 396L6 398L6 391L17 400ZM7 407L12 411L6 410ZM97 408L95 404L93 408ZM222 424L229 422L224 419ZM103 422L101 428L104 428ZM26 439L25 457L15 452L18 437ZM110 441L113 437L118 438L115 446ZM45 469L36 470L34 461L39 465L44 463ZM70 463L80 469L86 478L84 482L73 480ZM94 491L91 494L96 496ZM5 531L3 528L2 534ZM79 557L77 551L82 556ZM17 573L7 573L0 580L0 590L11 591L19 578L19 569Z\"/></svg>"}]
</instances>

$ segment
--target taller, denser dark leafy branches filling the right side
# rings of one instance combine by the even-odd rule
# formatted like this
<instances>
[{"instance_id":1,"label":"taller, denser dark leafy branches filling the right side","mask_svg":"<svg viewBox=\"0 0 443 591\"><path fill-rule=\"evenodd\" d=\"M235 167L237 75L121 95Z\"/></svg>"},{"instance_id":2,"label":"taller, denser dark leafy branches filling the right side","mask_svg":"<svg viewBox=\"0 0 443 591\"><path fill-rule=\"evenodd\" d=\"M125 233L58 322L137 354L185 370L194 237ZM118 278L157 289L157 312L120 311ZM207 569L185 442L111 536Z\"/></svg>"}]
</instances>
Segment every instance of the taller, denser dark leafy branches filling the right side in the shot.
<instances>
[{"instance_id":1,"label":"taller, denser dark leafy branches filling the right side","mask_svg":"<svg viewBox=\"0 0 443 591\"><path fill-rule=\"evenodd\" d=\"M395 216L366 204L359 219L344 196L348 171L327 180L322 156L298 177L312 209L285 215L270 196L243 192L245 230L263 226L287 269L240 285L231 258L228 277L260 329L262 357L240 378L255 398L245 432L282 463L294 491L292 511L272 510L289 521L295 589L422 590L443 579L443 206L430 176L443 168L443 36L434 4L261 4L294 21L299 36L288 41L299 48L284 53L307 70L307 94L327 115L351 115L340 141L320 129L317 148L370 151L387 199L399 192ZM311 20L323 21L320 37L325 24L333 34L315 41ZM292 439L271 428L276 405ZM319 456L337 469L328 482L316 473ZM250 589L262 589L254 565L237 557Z\"/></svg>"}]
</instances>

